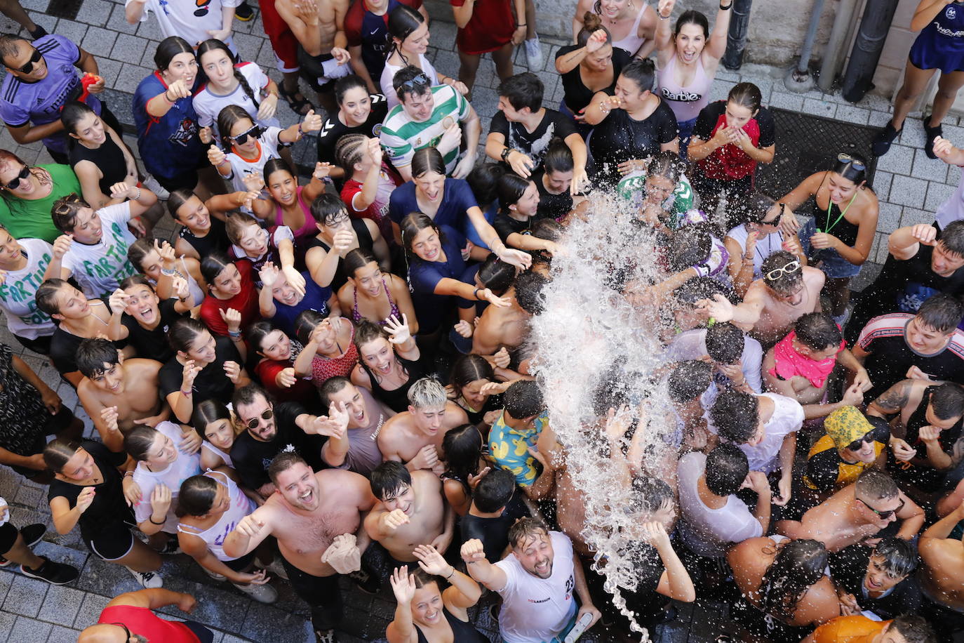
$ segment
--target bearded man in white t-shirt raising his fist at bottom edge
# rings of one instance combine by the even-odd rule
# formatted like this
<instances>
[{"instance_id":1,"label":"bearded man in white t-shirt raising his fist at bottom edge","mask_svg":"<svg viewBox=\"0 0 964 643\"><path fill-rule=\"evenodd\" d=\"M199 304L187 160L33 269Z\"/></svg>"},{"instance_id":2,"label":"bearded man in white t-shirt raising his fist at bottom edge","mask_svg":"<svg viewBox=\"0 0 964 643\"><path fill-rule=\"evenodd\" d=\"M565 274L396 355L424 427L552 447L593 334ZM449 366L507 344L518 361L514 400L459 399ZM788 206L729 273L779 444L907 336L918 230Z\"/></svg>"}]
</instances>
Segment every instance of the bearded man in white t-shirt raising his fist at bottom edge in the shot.
<instances>
[{"instance_id":1,"label":"bearded man in white t-shirt raising his fist at bottom edge","mask_svg":"<svg viewBox=\"0 0 964 643\"><path fill-rule=\"evenodd\" d=\"M561 639L584 615L591 618L587 630L599 620L582 563L565 534L550 532L537 519L522 518L509 529L509 544L512 554L496 563L486 560L478 539L461 550L469 576L502 597L498 630L504 640Z\"/></svg>"}]
</instances>

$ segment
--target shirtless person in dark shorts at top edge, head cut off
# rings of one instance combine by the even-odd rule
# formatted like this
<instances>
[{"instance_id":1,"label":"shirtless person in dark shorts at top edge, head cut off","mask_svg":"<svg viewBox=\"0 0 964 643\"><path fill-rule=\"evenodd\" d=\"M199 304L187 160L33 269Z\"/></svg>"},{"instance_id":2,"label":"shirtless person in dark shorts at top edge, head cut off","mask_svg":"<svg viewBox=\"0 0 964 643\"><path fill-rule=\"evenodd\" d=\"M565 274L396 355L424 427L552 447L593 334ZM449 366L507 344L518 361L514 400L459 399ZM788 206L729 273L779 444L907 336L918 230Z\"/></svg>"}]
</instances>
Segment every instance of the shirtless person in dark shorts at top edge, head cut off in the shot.
<instances>
[{"instance_id":1,"label":"shirtless person in dark shorts at top edge, head cut off","mask_svg":"<svg viewBox=\"0 0 964 643\"><path fill-rule=\"evenodd\" d=\"M345 36L348 0L277 0L281 15L299 47L298 59L329 114L337 111L335 80L352 72Z\"/></svg>"}]
</instances>

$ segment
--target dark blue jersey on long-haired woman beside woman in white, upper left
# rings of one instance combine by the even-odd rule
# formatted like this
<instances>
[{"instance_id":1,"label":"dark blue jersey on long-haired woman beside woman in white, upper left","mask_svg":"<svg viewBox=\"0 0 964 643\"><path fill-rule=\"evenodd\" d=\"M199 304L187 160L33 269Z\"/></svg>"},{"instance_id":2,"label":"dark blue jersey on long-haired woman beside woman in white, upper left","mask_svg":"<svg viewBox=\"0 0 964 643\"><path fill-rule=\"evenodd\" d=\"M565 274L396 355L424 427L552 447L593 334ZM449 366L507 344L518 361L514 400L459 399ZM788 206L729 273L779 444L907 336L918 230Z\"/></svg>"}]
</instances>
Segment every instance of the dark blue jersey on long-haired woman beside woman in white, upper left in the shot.
<instances>
[{"instance_id":1,"label":"dark blue jersey on long-haired woman beside woman in white, upper left","mask_svg":"<svg viewBox=\"0 0 964 643\"><path fill-rule=\"evenodd\" d=\"M192 94L197 87L198 83L192 88ZM194 111L191 96L178 98L160 118L147 114L147 101L167 89L167 83L155 71L137 86L132 109L137 124L137 145L147 172L173 178L197 170L204 146L198 137L198 113ZM149 154L145 153L148 149Z\"/></svg>"}]
</instances>

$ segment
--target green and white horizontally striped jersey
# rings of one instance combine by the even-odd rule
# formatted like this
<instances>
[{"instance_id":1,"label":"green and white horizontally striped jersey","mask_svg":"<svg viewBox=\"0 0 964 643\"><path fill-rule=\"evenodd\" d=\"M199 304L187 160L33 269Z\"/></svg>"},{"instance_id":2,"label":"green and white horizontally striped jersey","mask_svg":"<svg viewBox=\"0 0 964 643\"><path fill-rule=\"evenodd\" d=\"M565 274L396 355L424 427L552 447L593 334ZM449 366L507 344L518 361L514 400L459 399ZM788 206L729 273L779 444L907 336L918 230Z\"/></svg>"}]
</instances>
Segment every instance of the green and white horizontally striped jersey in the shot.
<instances>
[{"instance_id":1,"label":"green and white horizontally striped jersey","mask_svg":"<svg viewBox=\"0 0 964 643\"><path fill-rule=\"evenodd\" d=\"M395 105L388 111L382 124L380 140L391 164L396 168L411 165L416 149L436 147L446 129L453 123L469 118L469 101L452 87L436 85L432 88L432 95L435 98L435 107L432 109L432 116L426 121L413 121L402 105ZM458 147L443 157L445 172L450 174L459 160Z\"/></svg>"}]
</instances>

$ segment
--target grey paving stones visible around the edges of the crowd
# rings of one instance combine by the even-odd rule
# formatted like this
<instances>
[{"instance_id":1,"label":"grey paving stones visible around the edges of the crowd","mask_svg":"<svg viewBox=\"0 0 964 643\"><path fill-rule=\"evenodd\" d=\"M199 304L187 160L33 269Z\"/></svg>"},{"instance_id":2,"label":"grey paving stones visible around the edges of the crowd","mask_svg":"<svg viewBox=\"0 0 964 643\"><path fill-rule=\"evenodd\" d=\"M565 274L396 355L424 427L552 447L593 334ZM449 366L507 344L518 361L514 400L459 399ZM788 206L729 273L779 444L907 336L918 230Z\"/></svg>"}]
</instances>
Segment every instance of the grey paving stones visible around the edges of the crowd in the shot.
<instances>
[{"instance_id":1,"label":"grey paving stones visible around the edges of the crowd","mask_svg":"<svg viewBox=\"0 0 964 643\"><path fill-rule=\"evenodd\" d=\"M121 121L132 122L130 115L131 93L142 78L152 71L151 59L158 40L161 40L156 22L151 18L139 25L129 25L123 17L123 0L83 0L75 20L47 15L48 0L21 0L33 19L48 32L67 36L97 57L100 73L107 82L107 100ZM435 67L445 74L456 76L458 56L454 52L455 26L449 15L438 16L432 24L432 42L429 58ZM15 32L18 25L0 16L0 31ZM275 68L271 45L263 34L259 16L252 22L234 22L234 41L245 60L260 64L276 80L281 80ZM561 41L544 40L544 65L535 71L546 84L547 106L554 106L562 98L562 85L552 64L555 51L564 44ZM752 46L752 42L750 43ZM524 69L524 57L517 57L519 69ZM782 83L783 71L772 67L746 66L739 72L721 70L713 83L712 98L723 98L729 89L743 80L751 81L763 91L763 104L801 111L831 119L860 124L881 126L889 119L890 107L878 96L868 96L857 105L844 102L839 94L790 94ZM495 88L498 85L490 60L483 62L478 72L472 104L478 111L485 128L495 114L498 101ZM919 115L916 115L919 116ZM281 102L279 117L283 125L295 122L294 115ZM964 121L951 117L945 122L945 136L956 145L964 144ZM127 136L128 145L136 150L136 141ZM484 138L483 138L484 141ZM874 190L880 200L880 220L871 252L871 260L881 261L887 254L884 241L887 234L900 226L933 221L933 211L954 190L957 173L940 161L924 156L924 129L919 121L910 121L901 133L897 144L889 154L880 159L874 180ZM778 143L779 146L779 134ZM50 162L40 144L18 146L6 128L0 131L0 147L12 149L27 163ZM313 139L302 142L293 150L295 159L303 164L313 163ZM158 236L174 231L174 224L167 216L155 228ZM864 277L875 273L870 266ZM39 374L55 388L64 402L84 418L88 434L93 425L80 407L76 393L67 383L61 382L54 368L29 351L24 351L6 329L0 330L0 340L11 344ZM101 608L110 598L139 587L126 571L116 565L106 564L88 554L77 530L66 536L53 530L44 489L25 481L10 469L0 468L0 496L11 504L13 521L18 525L43 522L50 529L38 551L55 560L70 562L83 570L81 577L71 586L54 587L40 580L22 576L11 567L0 570L0 639L16 643L61 642L76 639L78 630L94 623ZM13 567L13 566L12 566ZM218 631L215 643L233 641L308 641L310 628L307 609L294 596L284 581L276 581L280 601L274 605L254 603L235 592L227 583L215 583L185 555L166 559L161 574L165 586L177 591L194 594L198 609L192 618ZM378 640L384 636L385 627L392 617L394 601L390 594L368 596L346 590L345 630L340 640ZM702 592L701 592L702 593ZM655 632L658 641L683 643L685 641L711 641L718 632L718 624L725 620L726 610L722 603L701 600L693 605L680 605L679 617ZM174 618L183 617L176 609L168 613ZM485 609L477 610L476 622L495 640L495 624ZM608 640L603 635L590 632L586 640Z\"/></svg>"}]
</instances>

